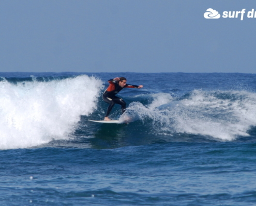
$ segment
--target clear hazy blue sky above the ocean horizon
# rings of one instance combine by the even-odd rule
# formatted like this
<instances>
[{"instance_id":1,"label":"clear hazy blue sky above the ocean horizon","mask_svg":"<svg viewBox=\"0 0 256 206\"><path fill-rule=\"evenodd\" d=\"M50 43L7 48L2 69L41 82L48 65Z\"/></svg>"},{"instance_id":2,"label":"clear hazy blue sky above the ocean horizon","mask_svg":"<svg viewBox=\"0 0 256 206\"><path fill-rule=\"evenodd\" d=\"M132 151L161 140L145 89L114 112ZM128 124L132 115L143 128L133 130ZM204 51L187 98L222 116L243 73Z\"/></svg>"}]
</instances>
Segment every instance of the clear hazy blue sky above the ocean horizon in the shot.
<instances>
[{"instance_id":1,"label":"clear hazy blue sky above the ocean horizon","mask_svg":"<svg viewBox=\"0 0 256 206\"><path fill-rule=\"evenodd\" d=\"M0 72L256 73L252 9L255 0L0 0Z\"/></svg>"}]
</instances>

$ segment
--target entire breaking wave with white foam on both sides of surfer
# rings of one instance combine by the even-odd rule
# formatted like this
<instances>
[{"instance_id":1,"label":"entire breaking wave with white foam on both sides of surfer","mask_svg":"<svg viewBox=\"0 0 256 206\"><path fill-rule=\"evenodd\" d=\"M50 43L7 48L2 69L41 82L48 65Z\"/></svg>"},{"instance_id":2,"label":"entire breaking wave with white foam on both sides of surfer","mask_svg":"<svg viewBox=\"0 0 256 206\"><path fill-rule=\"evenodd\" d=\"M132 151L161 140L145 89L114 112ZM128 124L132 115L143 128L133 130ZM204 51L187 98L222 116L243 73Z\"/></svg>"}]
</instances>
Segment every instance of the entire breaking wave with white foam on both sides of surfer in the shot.
<instances>
[{"instance_id":1,"label":"entire breaking wave with white foam on both sides of surfer","mask_svg":"<svg viewBox=\"0 0 256 206\"><path fill-rule=\"evenodd\" d=\"M15 75L0 78L0 149L113 148L173 141L248 141L256 136L254 92L127 89L121 96L129 105L124 115L131 123L106 126L88 122L102 119L108 107L100 98L107 84L99 78ZM110 117L123 118L120 110L116 105Z\"/></svg>"}]
</instances>

